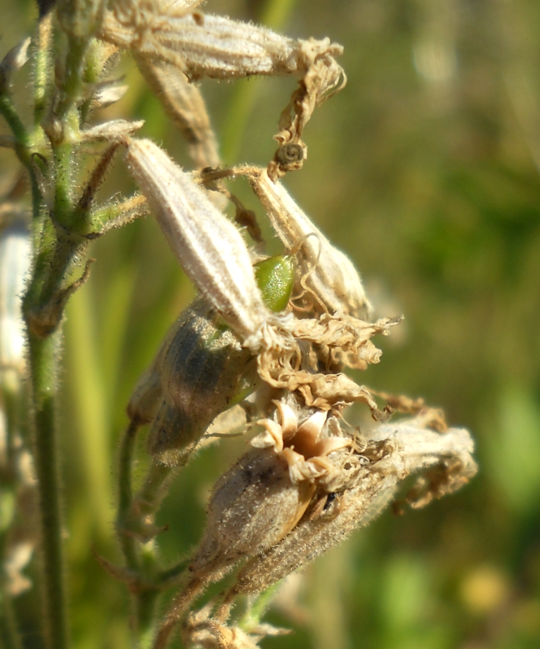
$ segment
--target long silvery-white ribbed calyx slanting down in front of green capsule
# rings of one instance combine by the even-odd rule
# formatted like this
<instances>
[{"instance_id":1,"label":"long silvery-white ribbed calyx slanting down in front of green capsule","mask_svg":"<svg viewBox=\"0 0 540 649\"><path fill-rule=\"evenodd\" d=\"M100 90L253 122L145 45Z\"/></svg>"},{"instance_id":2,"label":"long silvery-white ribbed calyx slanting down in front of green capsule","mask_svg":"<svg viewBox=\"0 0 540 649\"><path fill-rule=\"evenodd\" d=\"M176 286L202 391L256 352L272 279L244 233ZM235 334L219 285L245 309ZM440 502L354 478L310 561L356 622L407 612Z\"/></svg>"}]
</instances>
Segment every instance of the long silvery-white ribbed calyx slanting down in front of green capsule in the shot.
<instances>
[{"instance_id":1,"label":"long silvery-white ribbed calyx slanting down in front of green capsule","mask_svg":"<svg viewBox=\"0 0 540 649\"><path fill-rule=\"evenodd\" d=\"M240 338L252 337L256 346L266 321L278 316L262 301L236 227L152 141L128 139L126 159L186 274Z\"/></svg>"}]
</instances>

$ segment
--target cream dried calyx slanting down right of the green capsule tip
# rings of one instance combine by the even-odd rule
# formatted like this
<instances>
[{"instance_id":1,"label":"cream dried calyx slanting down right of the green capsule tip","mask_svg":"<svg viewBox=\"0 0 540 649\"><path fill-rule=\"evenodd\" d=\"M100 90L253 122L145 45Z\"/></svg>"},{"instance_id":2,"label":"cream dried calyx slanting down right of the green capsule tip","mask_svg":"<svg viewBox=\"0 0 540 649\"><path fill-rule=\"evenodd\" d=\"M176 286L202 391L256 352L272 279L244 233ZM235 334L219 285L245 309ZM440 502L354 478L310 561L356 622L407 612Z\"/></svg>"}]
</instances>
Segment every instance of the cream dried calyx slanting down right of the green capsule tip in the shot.
<instances>
[{"instance_id":1,"label":"cream dried calyx slanting down right of the green capsule tip","mask_svg":"<svg viewBox=\"0 0 540 649\"><path fill-rule=\"evenodd\" d=\"M304 214L279 182L264 169L245 169L250 184L268 214L272 227L288 250L297 252L296 293L304 308L330 314L363 317L371 312L358 271Z\"/></svg>"}]
</instances>

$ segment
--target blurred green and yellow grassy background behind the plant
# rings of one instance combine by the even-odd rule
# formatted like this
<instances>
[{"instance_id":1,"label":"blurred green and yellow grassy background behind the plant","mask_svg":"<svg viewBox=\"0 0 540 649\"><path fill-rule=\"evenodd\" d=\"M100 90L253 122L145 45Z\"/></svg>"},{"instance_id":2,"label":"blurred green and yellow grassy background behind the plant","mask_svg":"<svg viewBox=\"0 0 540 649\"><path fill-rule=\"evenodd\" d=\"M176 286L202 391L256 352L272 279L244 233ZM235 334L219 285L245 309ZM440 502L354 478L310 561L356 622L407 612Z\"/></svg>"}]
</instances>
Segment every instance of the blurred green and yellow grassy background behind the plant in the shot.
<instances>
[{"instance_id":1,"label":"blurred green and yellow grassy background behind the plant","mask_svg":"<svg viewBox=\"0 0 540 649\"><path fill-rule=\"evenodd\" d=\"M268 619L295 634L262 646L537 649L540 4L210 0L205 11L345 46L347 86L314 113L309 158L285 184L354 259L378 314L406 316L359 380L442 406L473 432L480 464L454 496L401 517L387 511L291 579ZM3 0L2 52L35 13ZM130 90L107 115L143 118L142 133L189 165L134 63L122 69ZM203 82L227 163L266 164L294 86ZM14 164L0 150L2 169ZM103 196L132 189L118 158ZM247 188L235 191L257 210ZM123 649L128 596L94 552L120 560L112 521L124 407L193 289L150 218L89 254L97 261L68 307L62 378L72 628L76 649ZM207 491L241 447L207 449L177 477L160 514L166 560L197 542ZM17 605L27 646L41 647L35 589Z\"/></svg>"}]
</instances>

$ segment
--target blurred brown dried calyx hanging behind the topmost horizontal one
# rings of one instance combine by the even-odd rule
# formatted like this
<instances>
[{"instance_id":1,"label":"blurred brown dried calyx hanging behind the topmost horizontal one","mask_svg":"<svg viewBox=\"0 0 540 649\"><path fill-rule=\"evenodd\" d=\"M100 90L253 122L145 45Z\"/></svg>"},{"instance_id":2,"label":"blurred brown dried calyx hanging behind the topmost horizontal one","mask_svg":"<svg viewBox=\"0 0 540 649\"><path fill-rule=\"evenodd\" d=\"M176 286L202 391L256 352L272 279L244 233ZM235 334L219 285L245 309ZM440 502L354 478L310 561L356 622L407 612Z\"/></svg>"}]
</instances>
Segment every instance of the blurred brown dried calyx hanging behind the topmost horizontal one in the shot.
<instances>
[{"instance_id":1,"label":"blurred brown dried calyx hanging behind the topmost horizontal one","mask_svg":"<svg viewBox=\"0 0 540 649\"><path fill-rule=\"evenodd\" d=\"M217 167L217 140L198 87L189 83L184 72L174 65L141 56L136 57L136 61L141 74L162 103L165 112L186 139L195 167Z\"/></svg>"}]
</instances>

